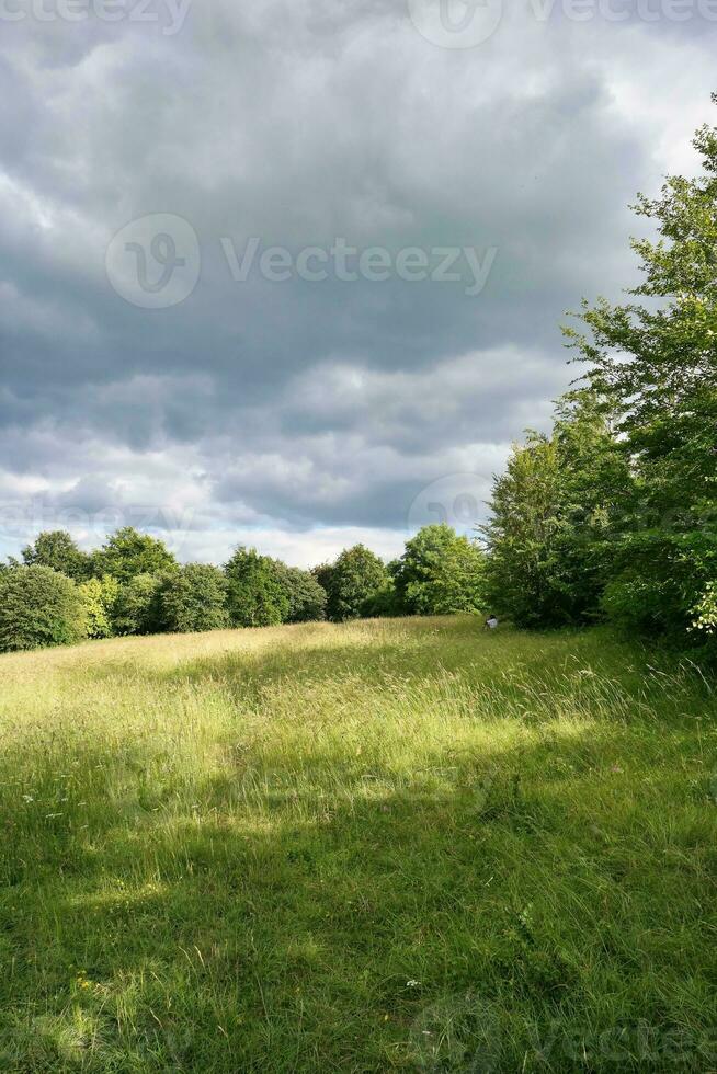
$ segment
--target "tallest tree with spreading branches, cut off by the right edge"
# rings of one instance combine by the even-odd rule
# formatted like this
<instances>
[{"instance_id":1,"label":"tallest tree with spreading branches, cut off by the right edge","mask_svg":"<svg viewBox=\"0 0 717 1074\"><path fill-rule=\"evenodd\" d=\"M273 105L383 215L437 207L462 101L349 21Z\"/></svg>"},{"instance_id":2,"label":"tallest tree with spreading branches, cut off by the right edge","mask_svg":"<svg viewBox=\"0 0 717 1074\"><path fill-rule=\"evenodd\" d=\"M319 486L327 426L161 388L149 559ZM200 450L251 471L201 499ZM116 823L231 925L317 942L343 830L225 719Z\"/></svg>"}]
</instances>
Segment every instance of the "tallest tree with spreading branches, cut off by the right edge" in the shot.
<instances>
[{"instance_id":1,"label":"tallest tree with spreading branches, cut off by the right edge","mask_svg":"<svg viewBox=\"0 0 717 1074\"><path fill-rule=\"evenodd\" d=\"M693 144L703 173L670 176L635 206L658 239L633 241L634 300L583 302L585 331L567 332L590 387L614 402L636 479L604 606L683 638L717 576L717 130Z\"/></svg>"}]
</instances>

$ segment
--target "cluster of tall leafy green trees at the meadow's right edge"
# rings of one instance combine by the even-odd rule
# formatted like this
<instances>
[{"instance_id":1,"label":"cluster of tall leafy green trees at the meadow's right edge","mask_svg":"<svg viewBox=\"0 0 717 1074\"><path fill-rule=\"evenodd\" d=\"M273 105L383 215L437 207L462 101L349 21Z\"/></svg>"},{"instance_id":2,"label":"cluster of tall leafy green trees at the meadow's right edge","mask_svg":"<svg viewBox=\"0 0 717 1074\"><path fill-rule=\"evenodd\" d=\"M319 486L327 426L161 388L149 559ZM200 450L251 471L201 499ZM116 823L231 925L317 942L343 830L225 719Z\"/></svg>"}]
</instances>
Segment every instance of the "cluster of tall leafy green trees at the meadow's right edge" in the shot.
<instances>
[{"instance_id":1,"label":"cluster of tall leafy green trees at the meadow's right edge","mask_svg":"<svg viewBox=\"0 0 717 1074\"><path fill-rule=\"evenodd\" d=\"M585 372L551 433L513 448L483 539L517 624L607 619L715 656L717 129L693 145L701 174L634 206L655 230L633 241L639 286L566 329Z\"/></svg>"}]
</instances>

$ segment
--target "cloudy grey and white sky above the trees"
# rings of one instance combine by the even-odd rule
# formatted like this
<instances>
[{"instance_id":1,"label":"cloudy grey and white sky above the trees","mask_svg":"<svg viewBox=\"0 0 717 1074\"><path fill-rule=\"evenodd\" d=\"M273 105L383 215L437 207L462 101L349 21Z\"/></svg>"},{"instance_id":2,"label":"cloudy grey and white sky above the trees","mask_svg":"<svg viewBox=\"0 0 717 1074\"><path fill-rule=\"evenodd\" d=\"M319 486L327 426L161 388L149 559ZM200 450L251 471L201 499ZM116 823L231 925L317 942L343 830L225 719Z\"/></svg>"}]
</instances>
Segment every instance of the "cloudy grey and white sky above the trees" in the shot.
<instances>
[{"instance_id":1,"label":"cloudy grey and white sky above the trees","mask_svg":"<svg viewBox=\"0 0 717 1074\"><path fill-rule=\"evenodd\" d=\"M470 532L715 122L717 0L0 0L0 556Z\"/></svg>"}]
</instances>

